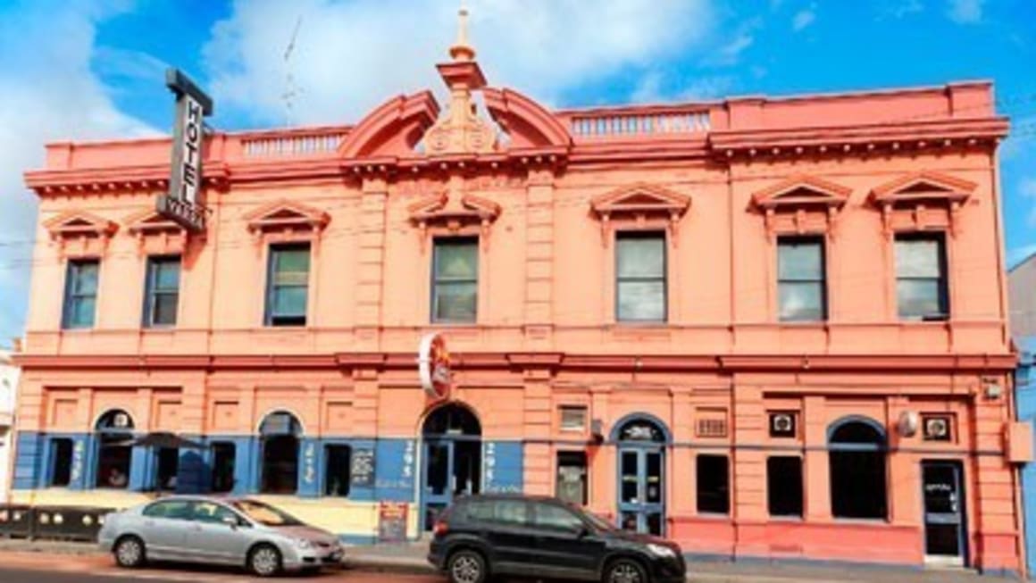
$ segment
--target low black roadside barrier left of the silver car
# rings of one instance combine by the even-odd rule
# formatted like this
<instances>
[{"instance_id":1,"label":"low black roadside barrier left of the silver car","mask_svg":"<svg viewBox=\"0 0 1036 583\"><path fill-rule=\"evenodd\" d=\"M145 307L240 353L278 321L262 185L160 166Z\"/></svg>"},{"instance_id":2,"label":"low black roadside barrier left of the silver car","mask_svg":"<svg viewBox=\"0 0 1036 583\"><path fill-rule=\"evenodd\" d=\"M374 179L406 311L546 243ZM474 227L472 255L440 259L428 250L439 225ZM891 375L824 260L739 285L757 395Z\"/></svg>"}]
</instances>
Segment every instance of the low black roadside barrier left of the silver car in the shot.
<instances>
[{"instance_id":1,"label":"low black roadside barrier left of the silver car","mask_svg":"<svg viewBox=\"0 0 1036 583\"><path fill-rule=\"evenodd\" d=\"M0 505L0 536L96 541L105 515L114 508Z\"/></svg>"}]
</instances>

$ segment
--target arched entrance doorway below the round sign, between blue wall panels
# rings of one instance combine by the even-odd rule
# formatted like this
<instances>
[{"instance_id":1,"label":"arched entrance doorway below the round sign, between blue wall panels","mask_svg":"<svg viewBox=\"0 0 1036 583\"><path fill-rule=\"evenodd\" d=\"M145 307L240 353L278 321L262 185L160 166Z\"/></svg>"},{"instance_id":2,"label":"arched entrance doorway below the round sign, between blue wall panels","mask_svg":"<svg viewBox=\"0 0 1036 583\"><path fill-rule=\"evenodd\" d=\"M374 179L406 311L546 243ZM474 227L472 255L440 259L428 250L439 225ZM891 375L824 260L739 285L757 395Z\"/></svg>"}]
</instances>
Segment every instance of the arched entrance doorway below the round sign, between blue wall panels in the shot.
<instances>
[{"instance_id":1,"label":"arched entrance doorway below the round sign, between blue wall panels","mask_svg":"<svg viewBox=\"0 0 1036 583\"><path fill-rule=\"evenodd\" d=\"M422 525L431 530L455 496L482 489L482 425L467 407L450 403L428 414L421 435Z\"/></svg>"}]
</instances>

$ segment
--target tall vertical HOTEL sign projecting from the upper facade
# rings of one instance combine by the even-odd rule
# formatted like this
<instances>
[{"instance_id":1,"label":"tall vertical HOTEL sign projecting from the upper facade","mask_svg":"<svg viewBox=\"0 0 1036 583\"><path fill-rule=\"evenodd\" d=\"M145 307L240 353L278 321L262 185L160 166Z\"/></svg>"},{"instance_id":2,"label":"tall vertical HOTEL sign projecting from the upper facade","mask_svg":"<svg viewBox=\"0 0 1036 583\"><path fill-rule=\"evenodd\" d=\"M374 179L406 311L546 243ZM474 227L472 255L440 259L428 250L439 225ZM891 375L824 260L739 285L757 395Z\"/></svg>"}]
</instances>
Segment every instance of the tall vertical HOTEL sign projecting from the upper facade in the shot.
<instances>
[{"instance_id":1,"label":"tall vertical HOTEL sign projecting from the upper facade","mask_svg":"<svg viewBox=\"0 0 1036 583\"><path fill-rule=\"evenodd\" d=\"M205 229L206 211L198 195L202 184L205 116L212 113L212 99L175 68L166 70L166 86L176 95L176 121L169 193L159 197L157 210L184 229L198 233Z\"/></svg>"}]
</instances>

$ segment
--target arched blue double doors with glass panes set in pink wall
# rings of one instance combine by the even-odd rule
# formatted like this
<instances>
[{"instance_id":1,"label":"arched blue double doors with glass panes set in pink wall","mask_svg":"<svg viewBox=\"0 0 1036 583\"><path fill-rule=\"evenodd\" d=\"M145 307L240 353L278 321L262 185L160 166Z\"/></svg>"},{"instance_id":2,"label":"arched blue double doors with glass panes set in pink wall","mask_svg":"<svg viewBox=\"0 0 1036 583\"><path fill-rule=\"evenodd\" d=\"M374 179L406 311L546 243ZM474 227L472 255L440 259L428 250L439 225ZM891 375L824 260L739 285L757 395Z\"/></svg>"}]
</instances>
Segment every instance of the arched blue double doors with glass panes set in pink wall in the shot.
<instances>
[{"instance_id":1,"label":"arched blue double doors with glass panes set in pink wall","mask_svg":"<svg viewBox=\"0 0 1036 583\"><path fill-rule=\"evenodd\" d=\"M665 533L665 445L669 434L658 419L623 419L611 436L618 443L618 525Z\"/></svg>"}]
</instances>

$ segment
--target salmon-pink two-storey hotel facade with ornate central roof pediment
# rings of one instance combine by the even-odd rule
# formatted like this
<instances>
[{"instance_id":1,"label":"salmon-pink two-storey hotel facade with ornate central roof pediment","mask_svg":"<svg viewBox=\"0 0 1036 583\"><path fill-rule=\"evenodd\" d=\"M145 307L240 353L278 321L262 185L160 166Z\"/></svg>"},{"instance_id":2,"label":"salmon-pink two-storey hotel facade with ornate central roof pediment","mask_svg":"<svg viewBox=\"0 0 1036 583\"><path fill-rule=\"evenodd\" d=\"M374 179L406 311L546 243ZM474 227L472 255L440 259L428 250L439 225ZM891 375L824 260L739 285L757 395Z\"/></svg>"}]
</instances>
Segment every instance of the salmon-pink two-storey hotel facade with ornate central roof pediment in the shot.
<instances>
[{"instance_id":1,"label":"salmon-pink two-storey hotel facade with ornate central roof pediment","mask_svg":"<svg viewBox=\"0 0 1036 583\"><path fill-rule=\"evenodd\" d=\"M1023 570L989 84L551 111L451 55L442 111L208 136L200 233L168 139L48 146L16 501L374 542L522 491L696 555Z\"/></svg>"}]
</instances>

